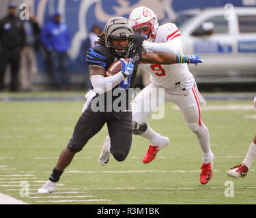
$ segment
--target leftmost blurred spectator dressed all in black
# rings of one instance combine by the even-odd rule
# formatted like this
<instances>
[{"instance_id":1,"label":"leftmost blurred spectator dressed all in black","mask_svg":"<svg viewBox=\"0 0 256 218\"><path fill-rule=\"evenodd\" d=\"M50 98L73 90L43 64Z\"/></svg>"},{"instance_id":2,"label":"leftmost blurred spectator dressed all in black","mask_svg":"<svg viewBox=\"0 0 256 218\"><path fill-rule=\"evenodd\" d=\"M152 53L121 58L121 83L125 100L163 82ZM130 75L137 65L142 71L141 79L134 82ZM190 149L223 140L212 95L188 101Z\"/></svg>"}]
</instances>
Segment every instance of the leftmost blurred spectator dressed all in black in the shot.
<instances>
[{"instance_id":1,"label":"leftmost blurred spectator dressed all in black","mask_svg":"<svg viewBox=\"0 0 256 218\"><path fill-rule=\"evenodd\" d=\"M4 89L5 69L11 65L11 91L18 91L20 54L25 52L25 29L16 16L16 3L8 6L8 15L0 20L0 91Z\"/></svg>"}]
</instances>

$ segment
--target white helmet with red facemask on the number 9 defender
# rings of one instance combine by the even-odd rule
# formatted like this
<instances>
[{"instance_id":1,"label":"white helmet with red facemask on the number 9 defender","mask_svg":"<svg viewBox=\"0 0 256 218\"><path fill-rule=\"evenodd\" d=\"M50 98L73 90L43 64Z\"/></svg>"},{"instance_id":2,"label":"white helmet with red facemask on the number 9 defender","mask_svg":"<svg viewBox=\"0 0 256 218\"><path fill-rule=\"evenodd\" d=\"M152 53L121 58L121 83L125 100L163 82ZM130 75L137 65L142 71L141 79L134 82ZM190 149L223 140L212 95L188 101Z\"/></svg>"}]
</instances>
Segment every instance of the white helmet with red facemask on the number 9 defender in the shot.
<instances>
[{"instance_id":1,"label":"white helmet with red facemask on the number 9 defender","mask_svg":"<svg viewBox=\"0 0 256 218\"><path fill-rule=\"evenodd\" d=\"M156 36L158 21L156 14L148 7L137 7L130 13L129 21L134 32L147 35L147 41L152 41Z\"/></svg>"}]
</instances>

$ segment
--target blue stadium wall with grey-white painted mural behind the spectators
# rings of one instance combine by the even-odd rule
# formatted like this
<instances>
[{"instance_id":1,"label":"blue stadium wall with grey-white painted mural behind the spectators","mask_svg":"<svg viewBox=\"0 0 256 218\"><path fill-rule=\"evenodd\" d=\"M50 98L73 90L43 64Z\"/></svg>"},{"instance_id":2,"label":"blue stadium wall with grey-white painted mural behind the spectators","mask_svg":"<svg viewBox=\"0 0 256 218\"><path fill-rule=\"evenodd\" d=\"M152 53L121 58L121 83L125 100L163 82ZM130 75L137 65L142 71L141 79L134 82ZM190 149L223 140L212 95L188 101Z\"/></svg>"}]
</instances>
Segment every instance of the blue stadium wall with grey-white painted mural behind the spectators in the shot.
<instances>
[{"instance_id":1,"label":"blue stadium wall with grey-white painted mural behind the spectators","mask_svg":"<svg viewBox=\"0 0 256 218\"><path fill-rule=\"evenodd\" d=\"M10 0L1 0L0 16L6 13ZM158 20L175 18L177 12L192 8L205 7L221 7L226 3L232 3L234 6L246 7L256 6L256 0L16 0L20 3L29 3L31 5L31 13L35 14L40 26L44 25L51 14L57 9L62 14L62 19L68 25L72 44L68 52L70 58L69 72L71 74L71 82L75 87L83 87L85 84L85 75L88 74L87 66L83 60L85 51L81 50L81 44L87 37L91 27L95 24L100 25L102 29L109 18L113 16L124 16L128 18L128 14L134 7L145 5L152 8L158 14ZM42 85L51 85L52 79L46 74L46 67L42 50L38 50L37 54L38 73L33 77L33 83ZM8 82L9 76L6 78Z\"/></svg>"}]
</instances>

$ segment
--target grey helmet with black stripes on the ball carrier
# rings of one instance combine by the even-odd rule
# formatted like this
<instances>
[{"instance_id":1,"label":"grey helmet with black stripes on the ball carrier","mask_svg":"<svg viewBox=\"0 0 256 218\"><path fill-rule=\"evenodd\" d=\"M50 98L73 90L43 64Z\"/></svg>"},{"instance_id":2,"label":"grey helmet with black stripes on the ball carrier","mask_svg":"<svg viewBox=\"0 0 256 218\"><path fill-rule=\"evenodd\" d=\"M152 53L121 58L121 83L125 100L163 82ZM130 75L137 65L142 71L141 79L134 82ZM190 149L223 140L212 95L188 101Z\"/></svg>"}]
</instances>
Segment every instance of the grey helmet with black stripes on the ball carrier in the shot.
<instances>
[{"instance_id":1,"label":"grey helmet with black stripes on the ball carrier","mask_svg":"<svg viewBox=\"0 0 256 218\"><path fill-rule=\"evenodd\" d=\"M126 56L132 50L133 29L130 22L123 17L114 17L106 22L104 28L105 45L118 56ZM115 46L113 40L128 40L127 46Z\"/></svg>"}]
</instances>

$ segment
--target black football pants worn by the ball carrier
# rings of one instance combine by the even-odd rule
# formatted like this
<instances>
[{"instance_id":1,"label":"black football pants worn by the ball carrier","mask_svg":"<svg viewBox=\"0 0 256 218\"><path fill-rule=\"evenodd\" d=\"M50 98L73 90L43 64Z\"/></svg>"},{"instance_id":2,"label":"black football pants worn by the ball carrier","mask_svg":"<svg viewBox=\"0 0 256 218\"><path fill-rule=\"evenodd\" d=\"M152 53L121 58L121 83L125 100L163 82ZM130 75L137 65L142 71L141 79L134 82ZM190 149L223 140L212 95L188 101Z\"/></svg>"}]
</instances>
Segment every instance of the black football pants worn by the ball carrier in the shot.
<instances>
[{"instance_id":1,"label":"black football pants worn by the ball carrier","mask_svg":"<svg viewBox=\"0 0 256 218\"><path fill-rule=\"evenodd\" d=\"M109 131L111 154L117 161L124 161L132 144L132 112L93 112L88 106L74 127L68 149L81 151L88 140L102 129L104 123Z\"/></svg>"}]
</instances>

